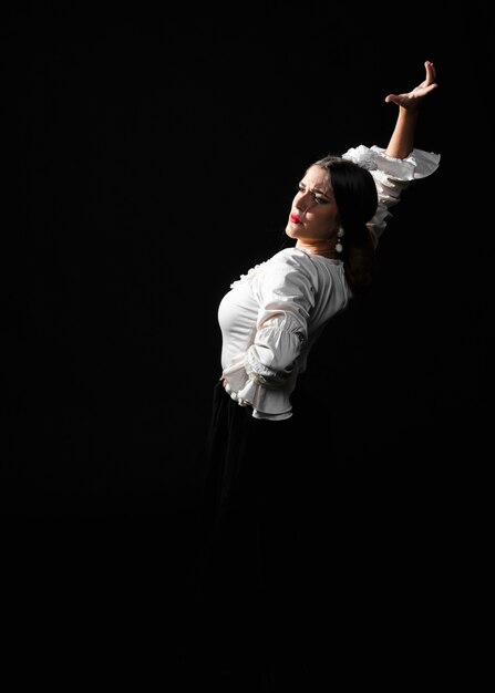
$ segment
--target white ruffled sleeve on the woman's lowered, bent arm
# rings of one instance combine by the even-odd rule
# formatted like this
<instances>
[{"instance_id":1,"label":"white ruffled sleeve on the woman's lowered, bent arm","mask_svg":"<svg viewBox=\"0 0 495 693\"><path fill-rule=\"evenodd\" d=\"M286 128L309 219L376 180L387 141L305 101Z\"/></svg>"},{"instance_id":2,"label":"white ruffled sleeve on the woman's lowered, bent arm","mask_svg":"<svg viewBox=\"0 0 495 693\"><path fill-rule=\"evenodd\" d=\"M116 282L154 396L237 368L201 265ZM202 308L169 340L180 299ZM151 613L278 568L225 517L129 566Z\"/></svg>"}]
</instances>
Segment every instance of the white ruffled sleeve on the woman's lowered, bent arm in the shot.
<instances>
[{"instance_id":1,"label":"white ruffled sleeve on the woman's lowered, bent arm","mask_svg":"<svg viewBox=\"0 0 495 693\"><path fill-rule=\"evenodd\" d=\"M223 373L230 396L251 405L258 417L264 412L271 418L290 416L289 395L314 304L311 263L299 255L278 254L254 277L259 310L252 343Z\"/></svg>"}]
</instances>

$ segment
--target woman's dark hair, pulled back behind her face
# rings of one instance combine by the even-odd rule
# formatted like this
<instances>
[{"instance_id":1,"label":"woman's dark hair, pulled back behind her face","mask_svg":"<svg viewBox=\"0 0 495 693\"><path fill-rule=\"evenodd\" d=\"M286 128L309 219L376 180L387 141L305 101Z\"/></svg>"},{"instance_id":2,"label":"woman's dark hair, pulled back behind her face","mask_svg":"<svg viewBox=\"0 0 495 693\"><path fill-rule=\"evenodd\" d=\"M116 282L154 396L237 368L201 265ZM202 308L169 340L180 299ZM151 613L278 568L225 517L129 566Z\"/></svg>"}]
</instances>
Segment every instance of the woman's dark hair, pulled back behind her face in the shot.
<instances>
[{"instance_id":1,"label":"woman's dark hair, pulled back behind her face","mask_svg":"<svg viewBox=\"0 0 495 693\"><path fill-rule=\"evenodd\" d=\"M354 292L362 291L371 285L377 270L374 244L367 227L378 207L373 176L354 162L332 154L312 166L324 168L330 176L344 230L340 257L346 277Z\"/></svg>"}]
</instances>

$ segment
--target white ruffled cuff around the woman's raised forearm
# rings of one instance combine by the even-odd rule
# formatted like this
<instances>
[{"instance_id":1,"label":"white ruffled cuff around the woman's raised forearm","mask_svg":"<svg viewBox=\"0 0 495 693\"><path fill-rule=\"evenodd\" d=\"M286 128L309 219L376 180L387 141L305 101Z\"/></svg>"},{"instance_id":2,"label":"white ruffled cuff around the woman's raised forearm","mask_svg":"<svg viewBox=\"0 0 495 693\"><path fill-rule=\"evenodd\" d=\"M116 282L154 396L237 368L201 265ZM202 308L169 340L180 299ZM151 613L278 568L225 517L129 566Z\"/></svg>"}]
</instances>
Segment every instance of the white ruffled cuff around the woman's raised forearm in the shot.
<instances>
[{"instance_id":1,"label":"white ruffled cuff around the woman's raised forearm","mask_svg":"<svg viewBox=\"0 0 495 693\"><path fill-rule=\"evenodd\" d=\"M433 152L413 149L406 158L395 158L385 154L383 147L377 145L367 147L361 144L348 149L342 158L354 162L368 170L379 169L390 178L415 180L431 176L439 168L441 157Z\"/></svg>"}]
</instances>

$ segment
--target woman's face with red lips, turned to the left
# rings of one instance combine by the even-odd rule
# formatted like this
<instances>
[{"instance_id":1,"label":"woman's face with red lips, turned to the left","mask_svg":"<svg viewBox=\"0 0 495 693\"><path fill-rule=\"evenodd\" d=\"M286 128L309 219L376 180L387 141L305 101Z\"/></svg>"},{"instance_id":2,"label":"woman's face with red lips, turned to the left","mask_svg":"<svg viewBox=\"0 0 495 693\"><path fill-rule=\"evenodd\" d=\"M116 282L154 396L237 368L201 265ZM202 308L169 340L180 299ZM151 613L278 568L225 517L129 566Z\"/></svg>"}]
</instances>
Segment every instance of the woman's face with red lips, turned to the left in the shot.
<instances>
[{"instance_id":1,"label":"woman's face with red lips, turned to the left","mask_svg":"<svg viewBox=\"0 0 495 693\"><path fill-rule=\"evenodd\" d=\"M299 183L292 200L286 234L296 238L297 248L328 247L339 228L339 210L328 172L311 166Z\"/></svg>"}]
</instances>

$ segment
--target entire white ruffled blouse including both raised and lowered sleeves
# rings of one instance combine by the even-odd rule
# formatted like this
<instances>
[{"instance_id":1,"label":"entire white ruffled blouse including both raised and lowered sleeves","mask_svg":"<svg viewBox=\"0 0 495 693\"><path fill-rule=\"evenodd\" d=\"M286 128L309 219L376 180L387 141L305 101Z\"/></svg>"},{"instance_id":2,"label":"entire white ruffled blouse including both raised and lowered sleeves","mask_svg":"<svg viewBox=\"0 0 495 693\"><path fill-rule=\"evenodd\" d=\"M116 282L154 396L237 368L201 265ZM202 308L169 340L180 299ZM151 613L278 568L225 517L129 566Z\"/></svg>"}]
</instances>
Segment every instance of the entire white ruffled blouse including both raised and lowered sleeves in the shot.
<instances>
[{"instance_id":1,"label":"entire white ruffled blouse including both raised and lowered sleeves","mask_svg":"<svg viewBox=\"0 0 495 693\"><path fill-rule=\"evenodd\" d=\"M413 149L405 159L360 145L343 158L368 168L379 206L368 227L375 245L411 180L431 175L440 155ZM218 308L226 390L256 418L292 415L290 395L326 323L343 311L352 293L343 263L297 248L280 250L230 285Z\"/></svg>"}]
</instances>

